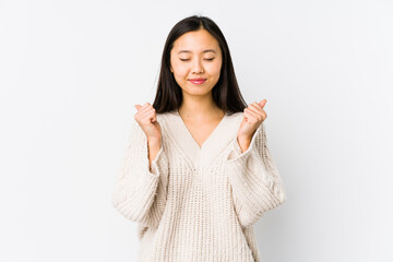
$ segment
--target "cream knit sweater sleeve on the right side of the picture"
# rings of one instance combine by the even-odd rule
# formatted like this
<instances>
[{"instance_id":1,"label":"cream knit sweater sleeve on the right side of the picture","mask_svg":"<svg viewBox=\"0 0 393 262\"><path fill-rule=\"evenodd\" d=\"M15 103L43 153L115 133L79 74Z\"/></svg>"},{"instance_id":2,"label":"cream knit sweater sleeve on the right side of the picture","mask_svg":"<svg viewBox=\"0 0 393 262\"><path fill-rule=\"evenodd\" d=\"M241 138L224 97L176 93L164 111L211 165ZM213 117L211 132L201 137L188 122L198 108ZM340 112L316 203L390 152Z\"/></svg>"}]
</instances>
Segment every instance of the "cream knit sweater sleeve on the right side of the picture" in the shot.
<instances>
[{"instance_id":1,"label":"cream knit sweater sleeve on the right side of the picture","mask_svg":"<svg viewBox=\"0 0 393 262\"><path fill-rule=\"evenodd\" d=\"M286 201L285 188L269 150L263 122L247 151L241 153L237 138L230 146L226 158L228 179L239 223L247 227Z\"/></svg>"}]
</instances>

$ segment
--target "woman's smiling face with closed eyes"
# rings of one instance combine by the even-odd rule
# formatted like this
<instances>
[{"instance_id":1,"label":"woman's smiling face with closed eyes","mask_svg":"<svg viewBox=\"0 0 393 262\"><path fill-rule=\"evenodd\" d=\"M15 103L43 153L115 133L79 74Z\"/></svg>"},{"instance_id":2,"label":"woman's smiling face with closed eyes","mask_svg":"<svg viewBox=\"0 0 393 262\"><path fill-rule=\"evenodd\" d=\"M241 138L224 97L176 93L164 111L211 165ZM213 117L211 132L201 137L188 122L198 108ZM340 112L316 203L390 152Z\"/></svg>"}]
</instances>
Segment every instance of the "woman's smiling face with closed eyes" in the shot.
<instances>
[{"instance_id":1,"label":"woman's smiling face with closed eyes","mask_svg":"<svg viewBox=\"0 0 393 262\"><path fill-rule=\"evenodd\" d=\"M219 45L207 31L188 32L174 43L170 71L183 93L209 94L218 82L221 68Z\"/></svg>"}]
</instances>

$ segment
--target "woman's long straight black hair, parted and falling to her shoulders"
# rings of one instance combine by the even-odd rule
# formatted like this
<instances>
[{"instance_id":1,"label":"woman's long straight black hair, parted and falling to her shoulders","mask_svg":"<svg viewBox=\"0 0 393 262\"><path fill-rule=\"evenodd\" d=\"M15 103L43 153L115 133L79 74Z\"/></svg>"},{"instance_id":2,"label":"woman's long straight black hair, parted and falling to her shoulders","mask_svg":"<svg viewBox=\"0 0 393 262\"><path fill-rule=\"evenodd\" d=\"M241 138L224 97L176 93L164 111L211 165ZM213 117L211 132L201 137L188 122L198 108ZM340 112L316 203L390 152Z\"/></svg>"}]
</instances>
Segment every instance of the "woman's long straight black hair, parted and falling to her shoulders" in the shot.
<instances>
[{"instance_id":1,"label":"woman's long straight black hair, parted and falling to her shoulders","mask_svg":"<svg viewBox=\"0 0 393 262\"><path fill-rule=\"evenodd\" d=\"M221 75L212 90L214 103L228 115L243 111L247 107L236 80L229 48L222 31L211 19L192 15L179 21L171 28L165 41L157 92L153 103L157 114L178 109L182 102L181 88L170 72L170 50L174 47L174 41L188 32L202 28L206 29L218 41L223 53Z\"/></svg>"}]
</instances>

